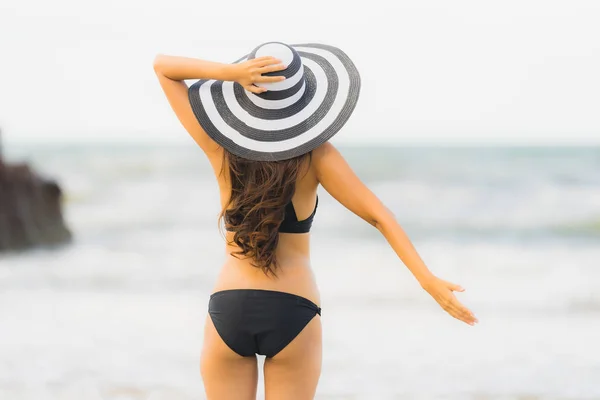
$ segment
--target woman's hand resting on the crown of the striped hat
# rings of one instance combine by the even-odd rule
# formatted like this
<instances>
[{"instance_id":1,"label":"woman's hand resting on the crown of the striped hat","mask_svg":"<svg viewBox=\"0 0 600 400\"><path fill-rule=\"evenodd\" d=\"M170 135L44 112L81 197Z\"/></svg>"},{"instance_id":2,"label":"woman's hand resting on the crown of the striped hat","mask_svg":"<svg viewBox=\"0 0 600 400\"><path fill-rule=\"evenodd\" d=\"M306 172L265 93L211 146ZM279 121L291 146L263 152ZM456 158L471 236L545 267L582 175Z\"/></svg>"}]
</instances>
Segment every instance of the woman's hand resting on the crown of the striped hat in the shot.
<instances>
[{"instance_id":1,"label":"woman's hand resting on the crown of the striped hat","mask_svg":"<svg viewBox=\"0 0 600 400\"><path fill-rule=\"evenodd\" d=\"M287 67L275 57L259 57L244 61L239 64L231 64L233 68L232 81L239 83L242 87L252 93L263 93L267 89L260 87L261 83L281 82L284 76L264 76L268 72L283 71Z\"/></svg>"}]
</instances>

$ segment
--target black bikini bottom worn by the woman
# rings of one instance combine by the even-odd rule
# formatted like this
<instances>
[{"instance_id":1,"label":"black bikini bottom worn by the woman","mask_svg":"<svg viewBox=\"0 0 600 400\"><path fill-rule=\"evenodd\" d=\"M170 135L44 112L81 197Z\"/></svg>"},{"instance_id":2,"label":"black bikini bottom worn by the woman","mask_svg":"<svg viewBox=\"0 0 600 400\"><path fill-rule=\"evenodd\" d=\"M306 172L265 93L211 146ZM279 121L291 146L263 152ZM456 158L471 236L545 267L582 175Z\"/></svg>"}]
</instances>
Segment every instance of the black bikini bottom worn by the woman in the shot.
<instances>
[{"instance_id":1,"label":"black bikini bottom worn by the woman","mask_svg":"<svg viewBox=\"0 0 600 400\"><path fill-rule=\"evenodd\" d=\"M231 289L210 296L208 313L221 339L237 354L273 357L321 315L321 309L291 293Z\"/></svg>"}]
</instances>

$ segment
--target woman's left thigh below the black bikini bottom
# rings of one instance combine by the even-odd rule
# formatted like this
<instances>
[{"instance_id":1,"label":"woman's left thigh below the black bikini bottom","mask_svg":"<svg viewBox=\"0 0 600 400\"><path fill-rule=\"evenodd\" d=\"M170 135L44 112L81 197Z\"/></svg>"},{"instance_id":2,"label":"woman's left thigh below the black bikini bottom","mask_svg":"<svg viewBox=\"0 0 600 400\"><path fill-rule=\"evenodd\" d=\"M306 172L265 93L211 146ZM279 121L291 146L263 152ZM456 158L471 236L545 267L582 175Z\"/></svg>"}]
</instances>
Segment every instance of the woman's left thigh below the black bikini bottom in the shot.
<instances>
[{"instance_id":1,"label":"woman's left thigh below the black bikini bottom","mask_svg":"<svg viewBox=\"0 0 600 400\"><path fill-rule=\"evenodd\" d=\"M208 400L256 399L256 357L242 357L231 350L209 316L204 327L200 372Z\"/></svg>"}]
</instances>

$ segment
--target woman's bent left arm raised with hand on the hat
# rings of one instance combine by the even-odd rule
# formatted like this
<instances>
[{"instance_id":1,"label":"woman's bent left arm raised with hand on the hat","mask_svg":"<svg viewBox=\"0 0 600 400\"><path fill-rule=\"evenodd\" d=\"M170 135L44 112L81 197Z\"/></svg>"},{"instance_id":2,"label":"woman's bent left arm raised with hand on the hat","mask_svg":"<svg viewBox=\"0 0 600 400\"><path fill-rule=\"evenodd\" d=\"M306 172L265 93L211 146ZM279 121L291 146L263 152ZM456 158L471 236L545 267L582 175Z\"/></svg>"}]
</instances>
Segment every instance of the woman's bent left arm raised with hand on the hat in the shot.
<instances>
[{"instance_id":1,"label":"woman's bent left arm raised with hand on the hat","mask_svg":"<svg viewBox=\"0 0 600 400\"><path fill-rule=\"evenodd\" d=\"M192 138L207 155L218 145L200 127L188 98L186 79L215 79L234 81L254 93L264 92L260 83L278 82L284 77L262 76L266 72L285 69L281 61L273 57L260 57L239 64L222 64L196 58L176 57L159 54L154 59L154 72L167 96L171 108Z\"/></svg>"}]
</instances>

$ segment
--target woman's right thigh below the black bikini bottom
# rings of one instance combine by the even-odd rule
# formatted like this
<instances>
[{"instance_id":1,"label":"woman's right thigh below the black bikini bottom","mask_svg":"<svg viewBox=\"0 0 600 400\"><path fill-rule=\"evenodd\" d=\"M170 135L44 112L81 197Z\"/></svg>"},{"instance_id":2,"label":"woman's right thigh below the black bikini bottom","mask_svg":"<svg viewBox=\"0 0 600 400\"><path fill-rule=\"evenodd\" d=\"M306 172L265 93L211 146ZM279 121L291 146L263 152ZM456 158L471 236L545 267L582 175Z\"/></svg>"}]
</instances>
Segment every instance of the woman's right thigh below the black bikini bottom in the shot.
<instances>
[{"instance_id":1,"label":"woman's right thigh below the black bikini bottom","mask_svg":"<svg viewBox=\"0 0 600 400\"><path fill-rule=\"evenodd\" d=\"M289 345L265 360L266 400L312 400L321 360L321 317L316 315Z\"/></svg>"}]
</instances>

